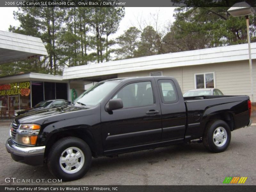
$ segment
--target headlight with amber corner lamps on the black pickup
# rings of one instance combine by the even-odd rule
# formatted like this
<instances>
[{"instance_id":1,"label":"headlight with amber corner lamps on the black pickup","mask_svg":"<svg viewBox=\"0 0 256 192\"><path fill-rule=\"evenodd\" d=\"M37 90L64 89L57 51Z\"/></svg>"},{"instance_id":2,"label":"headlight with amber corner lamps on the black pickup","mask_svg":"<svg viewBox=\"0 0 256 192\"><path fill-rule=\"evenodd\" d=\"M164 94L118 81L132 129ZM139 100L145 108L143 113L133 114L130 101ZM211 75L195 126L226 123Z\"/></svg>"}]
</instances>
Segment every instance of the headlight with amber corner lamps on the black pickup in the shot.
<instances>
[{"instance_id":1,"label":"headlight with amber corner lamps on the black pickup","mask_svg":"<svg viewBox=\"0 0 256 192\"><path fill-rule=\"evenodd\" d=\"M38 124L20 124L15 141L20 145L35 146L40 128Z\"/></svg>"}]
</instances>

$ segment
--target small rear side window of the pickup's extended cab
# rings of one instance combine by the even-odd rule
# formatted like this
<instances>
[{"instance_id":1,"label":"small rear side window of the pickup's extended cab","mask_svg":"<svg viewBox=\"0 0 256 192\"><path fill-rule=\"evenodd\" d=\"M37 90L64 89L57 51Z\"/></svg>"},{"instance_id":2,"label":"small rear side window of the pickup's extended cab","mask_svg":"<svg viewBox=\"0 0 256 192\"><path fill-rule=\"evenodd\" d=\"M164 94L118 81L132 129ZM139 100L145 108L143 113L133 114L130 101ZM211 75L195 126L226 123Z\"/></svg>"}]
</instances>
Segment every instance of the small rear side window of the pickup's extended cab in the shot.
<instances>
[{"instance_id":1,"label":"small rear side window of the pickup's extended cab","mask_svg":"<svg viewBox=\"0 0 256 192\"><path fill-rule=\"evenodd\" d=\"M178 101L177 91L172 80L158 80L158 86L163 103L175 103Z\"/></svg>"}]
</instances>

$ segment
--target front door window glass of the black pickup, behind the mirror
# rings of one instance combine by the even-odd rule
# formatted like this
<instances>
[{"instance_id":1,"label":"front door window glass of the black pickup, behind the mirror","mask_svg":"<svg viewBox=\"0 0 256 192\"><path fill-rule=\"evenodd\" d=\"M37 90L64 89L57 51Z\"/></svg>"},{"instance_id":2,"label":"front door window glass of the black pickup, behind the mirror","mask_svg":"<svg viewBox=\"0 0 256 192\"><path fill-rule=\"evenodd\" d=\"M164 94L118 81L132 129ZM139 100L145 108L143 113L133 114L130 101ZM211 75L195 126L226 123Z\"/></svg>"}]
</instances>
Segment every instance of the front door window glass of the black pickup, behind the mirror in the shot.
<instances>
[{"instance_id":1,"label":"front door window glass of the black pickup, behind the mirror","mask_svg":"<svg viewBox=\"0 0 256 192\"><path fill-rule=\"evenodd\" d=\"M150 81L128 84L113 99L120 98L124 108L140 107L154 104L154 96Z\"/></svg>"}]
</instances>

